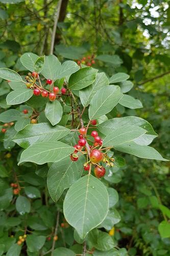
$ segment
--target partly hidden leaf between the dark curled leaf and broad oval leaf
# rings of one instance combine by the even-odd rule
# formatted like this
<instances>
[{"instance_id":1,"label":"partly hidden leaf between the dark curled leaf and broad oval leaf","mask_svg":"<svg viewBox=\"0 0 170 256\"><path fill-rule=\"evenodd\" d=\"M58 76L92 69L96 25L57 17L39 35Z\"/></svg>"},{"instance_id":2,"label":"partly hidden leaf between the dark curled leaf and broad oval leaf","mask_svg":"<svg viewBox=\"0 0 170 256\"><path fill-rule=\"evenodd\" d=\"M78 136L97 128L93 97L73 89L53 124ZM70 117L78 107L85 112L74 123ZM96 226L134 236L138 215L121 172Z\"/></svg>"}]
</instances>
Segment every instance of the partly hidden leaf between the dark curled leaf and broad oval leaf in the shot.
<instances>
[{"instance_id":1,"label":"partly hidden leaf between the dark curled leaf and broad oval leaf","mask_svg":"<svg viewBox=\"0 0 170 256\"><path fill-rule=\"evenodd\" d=\"M92 97L96 92L98 92L101 88L108 86L109 79L105 75L105 73L98 73L96 75L95 81L88 87L84 88L79 92L80 100L83 106L88 106Z\"/></svg>"}]
</instances>

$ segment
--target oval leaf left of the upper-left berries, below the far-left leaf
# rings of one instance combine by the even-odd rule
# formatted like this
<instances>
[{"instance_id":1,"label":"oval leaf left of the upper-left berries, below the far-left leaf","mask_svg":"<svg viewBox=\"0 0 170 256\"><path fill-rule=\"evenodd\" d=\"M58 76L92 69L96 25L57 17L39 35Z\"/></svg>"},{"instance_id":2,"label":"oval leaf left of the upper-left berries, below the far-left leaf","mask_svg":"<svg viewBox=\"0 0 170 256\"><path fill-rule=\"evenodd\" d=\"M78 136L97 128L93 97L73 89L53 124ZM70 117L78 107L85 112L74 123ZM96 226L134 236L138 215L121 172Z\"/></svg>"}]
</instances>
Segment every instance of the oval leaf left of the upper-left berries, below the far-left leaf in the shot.
<instances>
[{"instance_id":1,"label":"oval leaf left of the upper-left berries, below the far-left leaf","mask_svg":"<svg viewBox=\"0 0 170 256\"><path fill-rule=\"evenodd\" d=\"M29 100L33 96L33 90L28 88L19 88L7 95L7 104L16 105Z\"/></svg>"}]
</instances>

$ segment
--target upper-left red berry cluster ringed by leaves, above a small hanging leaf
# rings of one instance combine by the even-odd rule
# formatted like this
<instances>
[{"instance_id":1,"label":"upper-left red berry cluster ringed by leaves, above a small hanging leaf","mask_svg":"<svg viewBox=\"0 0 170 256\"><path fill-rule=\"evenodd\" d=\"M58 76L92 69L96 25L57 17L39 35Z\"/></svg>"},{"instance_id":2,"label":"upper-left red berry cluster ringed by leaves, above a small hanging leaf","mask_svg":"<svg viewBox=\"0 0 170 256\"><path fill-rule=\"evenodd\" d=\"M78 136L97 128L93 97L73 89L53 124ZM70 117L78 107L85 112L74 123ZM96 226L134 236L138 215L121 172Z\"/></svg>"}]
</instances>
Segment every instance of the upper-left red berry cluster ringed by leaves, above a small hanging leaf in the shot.
<instances>
[{"instance_id":1,"label":"upper-left red berry cluster ringed by leaves, above a small hanging leaf","mask_svg":"<svg viewBox=\"0 0 170 256\"><path fill-rule=\"evenodd\" d=\"M58 94L60 89L57 86L54 86L53 80L51 79L46 80L46 84L50 85L50 90L44 89L42 87L39 75L36 72L33 72L32 74L28 73L26 80L26 86L33 90L35 96L41 95L43 98L48 98L50 101L54 101L57 96L66 94L66 89L64 87L61 89L61 94ZM37 82L39 82L40 85L38 85ZM51 86L53 86L53 88L51 88Z\"/></svg>"}]
</instances>

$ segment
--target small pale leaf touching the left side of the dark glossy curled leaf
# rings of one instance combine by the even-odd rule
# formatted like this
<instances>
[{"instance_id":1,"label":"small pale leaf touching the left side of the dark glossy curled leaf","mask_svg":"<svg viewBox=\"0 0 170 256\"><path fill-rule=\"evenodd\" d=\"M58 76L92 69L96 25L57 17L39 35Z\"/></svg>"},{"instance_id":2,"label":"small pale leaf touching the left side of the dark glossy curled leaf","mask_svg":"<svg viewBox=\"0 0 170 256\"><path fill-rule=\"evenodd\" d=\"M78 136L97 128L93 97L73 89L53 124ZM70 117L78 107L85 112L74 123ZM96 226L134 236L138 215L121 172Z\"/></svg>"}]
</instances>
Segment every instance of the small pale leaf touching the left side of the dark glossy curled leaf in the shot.
<instances>
[{"instance_id":1,"label":"small pale leaf touching the left side of the dark glossy curled leaf","mask_svg":"<svg viewBox=\"0 0 170 256\"><path fill-rule=\"evenodd\" d=\"M75 61L67 60L62 63L62 65L56 69L55 79L60 79L78 71L80 67Z\"/></svg>"}]
</instances>

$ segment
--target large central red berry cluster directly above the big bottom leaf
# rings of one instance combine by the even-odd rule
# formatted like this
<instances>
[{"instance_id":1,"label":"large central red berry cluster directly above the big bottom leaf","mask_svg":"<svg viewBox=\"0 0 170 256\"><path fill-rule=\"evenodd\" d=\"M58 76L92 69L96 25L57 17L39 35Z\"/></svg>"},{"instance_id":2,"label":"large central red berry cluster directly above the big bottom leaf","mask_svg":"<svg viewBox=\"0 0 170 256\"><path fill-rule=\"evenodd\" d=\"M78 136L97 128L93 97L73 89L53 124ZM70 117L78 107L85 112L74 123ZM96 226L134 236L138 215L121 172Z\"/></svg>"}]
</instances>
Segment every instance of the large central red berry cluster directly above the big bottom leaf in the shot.
<instances>
[{"instance_id":1,"label":"large central red berry cluster directly above the big bottom leaf","mask_svg":"<svg viewBox=\"0 0 170 256\"><path fill-rule=\"evenodd\" d=\"M96 120L91 120L90 123L95 125ZM74 145L75 151L73 154L70 155L70 159L72 161L77 161L79 159L79 155L77 154L78 152L83 155L87 155L87 162L84 163L84 170L91 171L90 165L94 165L95 177L103 177L106 173L106 169L98 163L103 162L106 163L106 166L113 166L114 158L110 158L107 155L107 151L103 152L105 150L109 150L110 148L102 148L103 140L96 131L91 132L91 137L93 138L93 141L88 139L87 129L85 127L82 127L79 130L79 133L80 135L78 144ZM88 144L87 141L89 141L90 143L92 142L92 145Z\"/></svg>"}]
</instances>

